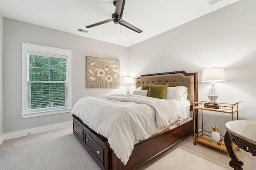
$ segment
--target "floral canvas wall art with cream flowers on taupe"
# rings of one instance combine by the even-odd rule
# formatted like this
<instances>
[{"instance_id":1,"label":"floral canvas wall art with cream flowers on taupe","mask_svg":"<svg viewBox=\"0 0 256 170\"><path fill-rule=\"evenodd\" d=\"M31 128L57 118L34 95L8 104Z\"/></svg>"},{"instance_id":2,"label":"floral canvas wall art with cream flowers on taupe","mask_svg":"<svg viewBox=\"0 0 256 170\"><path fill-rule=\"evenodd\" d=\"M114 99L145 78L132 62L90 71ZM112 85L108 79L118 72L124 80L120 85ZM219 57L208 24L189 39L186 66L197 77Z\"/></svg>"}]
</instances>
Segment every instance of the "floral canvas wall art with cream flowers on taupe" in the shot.
<instances>
[{"instance_id":1,"label":"floral canvas wall art with cream flowers on taupe","mask_svg":"<svg viewBox=\"0 0 256 170\"><path fill-rule=\"evenodd\" d=\"M119 88L120 61L86 56L86 88Z\"/></svg>"}]
</instances>

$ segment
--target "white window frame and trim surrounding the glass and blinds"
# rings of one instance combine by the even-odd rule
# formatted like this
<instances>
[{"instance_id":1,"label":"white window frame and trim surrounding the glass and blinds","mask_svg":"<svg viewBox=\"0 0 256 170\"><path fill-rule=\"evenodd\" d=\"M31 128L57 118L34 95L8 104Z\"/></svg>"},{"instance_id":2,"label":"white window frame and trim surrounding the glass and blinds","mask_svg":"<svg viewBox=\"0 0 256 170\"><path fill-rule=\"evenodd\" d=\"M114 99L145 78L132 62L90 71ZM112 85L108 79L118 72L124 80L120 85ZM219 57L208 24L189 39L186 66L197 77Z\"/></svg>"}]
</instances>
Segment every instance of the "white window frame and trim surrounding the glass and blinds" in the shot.
<instances>
[{"instance_id":1,"label":"white window frame and trim surrounding the glass and blinds","mask_svg":"<svg viewBox=\"0 0 256 170\"><path fill-rule=\"evenodd\" d=\"M58 113L68 113L72 110L72 88L71 88L71 50L46 47L42 45L34 45L28 43L22 44L22 118L36 117L43 115L52 115ZM67 80L68 80L68 108L64 109L49 109L44 111L28 111L28 54L29 53L45 53L48 57L54 55L67 56Z\"/></svg>"}]
</instances>

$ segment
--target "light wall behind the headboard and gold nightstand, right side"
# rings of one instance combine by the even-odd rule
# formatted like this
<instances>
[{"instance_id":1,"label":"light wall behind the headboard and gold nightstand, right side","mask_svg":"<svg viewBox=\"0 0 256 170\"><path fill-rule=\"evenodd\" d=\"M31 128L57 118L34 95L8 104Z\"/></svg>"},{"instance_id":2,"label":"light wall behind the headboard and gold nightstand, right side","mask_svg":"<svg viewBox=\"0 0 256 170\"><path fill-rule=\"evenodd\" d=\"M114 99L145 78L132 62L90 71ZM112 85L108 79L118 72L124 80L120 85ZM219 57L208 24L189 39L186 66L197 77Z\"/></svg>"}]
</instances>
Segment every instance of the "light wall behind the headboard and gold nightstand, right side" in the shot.
<instances>
[{"instance_id":1,"label":"light wall behind the headboard and gold nightstand, right side","mask_svg":"<svg viewBox=\"0 0 256 170\"><path fill-rule=\"evenodd\" d=\"M202 69L224 67L226 81L216 83L217 101L242 100L240 119L256 120L255 16L256 1L240 0L133 45L128 48L132 65L129 72L136 76L178 70L198 72L199 100L208 101L210 83L202 83ZM204 120L209 120L208 127L222 125L224 135L224 123L231 120L231 115L210 112Z\"/></svg>"}]
</instances>

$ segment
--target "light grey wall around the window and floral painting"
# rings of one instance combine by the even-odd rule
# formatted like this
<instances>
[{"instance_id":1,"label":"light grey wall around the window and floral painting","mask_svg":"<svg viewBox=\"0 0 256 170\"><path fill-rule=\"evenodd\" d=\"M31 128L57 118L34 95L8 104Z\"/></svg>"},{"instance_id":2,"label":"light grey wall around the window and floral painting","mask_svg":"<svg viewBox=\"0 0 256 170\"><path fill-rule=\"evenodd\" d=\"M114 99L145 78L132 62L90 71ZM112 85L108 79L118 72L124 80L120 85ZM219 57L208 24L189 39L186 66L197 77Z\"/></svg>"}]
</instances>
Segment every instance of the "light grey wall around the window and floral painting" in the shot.
<instances>
[{"instance_id":1,"label":"light grey wall around the window and floral painting","mask_svg":"<svg viewBox=\"0 0 256 170\"><path fill-rule=\"evenodd\" d=\"M86 55L120 60L121 76L127 76L128 52L126 47L9 18L4 18L3 23L4 133L72 121L70 113L21 118L21 42L72 50L72 105L84 96L125 94L126 88L123 84L118 89L86 89L85 62Z\"/></svg>"}]
</instances>

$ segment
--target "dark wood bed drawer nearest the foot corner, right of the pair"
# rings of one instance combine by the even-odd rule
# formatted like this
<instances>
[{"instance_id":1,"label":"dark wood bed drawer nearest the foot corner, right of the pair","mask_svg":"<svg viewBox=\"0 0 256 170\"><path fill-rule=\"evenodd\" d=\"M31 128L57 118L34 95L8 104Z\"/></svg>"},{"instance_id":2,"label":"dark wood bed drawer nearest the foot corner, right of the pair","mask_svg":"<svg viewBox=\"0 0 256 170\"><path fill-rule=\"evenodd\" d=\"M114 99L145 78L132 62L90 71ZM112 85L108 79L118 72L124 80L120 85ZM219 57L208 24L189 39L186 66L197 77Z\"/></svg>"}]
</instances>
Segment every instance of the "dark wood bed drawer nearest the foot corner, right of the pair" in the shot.
<instances>
[{"instance_id":1,"label":"dark wood bed drawer nearest the foot corner, right of the pair","mask_svg":"<svg viewBox=\"0 0 256 170\"><path fill-rule=\"evenodd\" d=\"M103 151L104 149L90 137L87 133L85 133L85 144L92 150L94 155L100 160L103 164Z\"/></svg>"}]
</instances>

